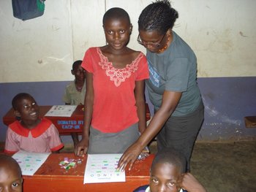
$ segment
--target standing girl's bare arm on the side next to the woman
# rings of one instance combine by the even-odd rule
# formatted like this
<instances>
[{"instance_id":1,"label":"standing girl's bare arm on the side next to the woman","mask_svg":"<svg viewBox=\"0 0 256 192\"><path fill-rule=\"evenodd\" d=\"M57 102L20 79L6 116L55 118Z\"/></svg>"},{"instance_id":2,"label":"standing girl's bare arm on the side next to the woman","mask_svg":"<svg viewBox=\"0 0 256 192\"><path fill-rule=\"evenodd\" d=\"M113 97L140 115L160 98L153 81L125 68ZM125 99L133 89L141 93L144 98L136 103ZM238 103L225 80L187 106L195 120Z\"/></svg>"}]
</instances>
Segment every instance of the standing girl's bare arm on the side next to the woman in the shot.
<instances>
[{"instance_id":1,"label":"standing girl's bare arm on the side next to the woman","mask_svg":"<svg viewBox=\"0 0 256 192\"><path fill-rule=\"evenodd\" d=\"M145 104L145 82L139 80L135 82L135 100L137 106L137 114L139 118L139 131L140 134L146 129L146 104Z\"/></svg>"}]
</instances>

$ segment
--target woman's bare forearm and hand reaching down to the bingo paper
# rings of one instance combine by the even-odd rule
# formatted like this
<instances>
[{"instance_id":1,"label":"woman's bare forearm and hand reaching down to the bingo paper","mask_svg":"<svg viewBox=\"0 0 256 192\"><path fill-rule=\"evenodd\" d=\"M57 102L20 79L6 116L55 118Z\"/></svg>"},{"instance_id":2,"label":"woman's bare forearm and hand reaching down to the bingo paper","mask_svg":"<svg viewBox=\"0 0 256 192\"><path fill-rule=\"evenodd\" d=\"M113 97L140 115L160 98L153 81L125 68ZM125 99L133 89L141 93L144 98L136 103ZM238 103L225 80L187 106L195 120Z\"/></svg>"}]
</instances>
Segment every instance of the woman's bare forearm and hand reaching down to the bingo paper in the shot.
<instances>
[{"instance_id":1,"label":"woman's bare forearm and hand reaching down to the bingo paper","mask_svg":"<svg viewBox=\"0 0 256 192\"><path fill-rule=\"evenodd\" d=\"M155 113L151 122L146 130L140 135L139 139L124 152L121 156L118 169L124 170L127 164L129 164L129 170L132 169L132 164L136 161L138 155L143 150L148 142L153 139L160 131L166 120L172 115L176 109L178 101L181 99L181 92L165 91L162 96L162 105Z\"/></svg>"}]
</instances>

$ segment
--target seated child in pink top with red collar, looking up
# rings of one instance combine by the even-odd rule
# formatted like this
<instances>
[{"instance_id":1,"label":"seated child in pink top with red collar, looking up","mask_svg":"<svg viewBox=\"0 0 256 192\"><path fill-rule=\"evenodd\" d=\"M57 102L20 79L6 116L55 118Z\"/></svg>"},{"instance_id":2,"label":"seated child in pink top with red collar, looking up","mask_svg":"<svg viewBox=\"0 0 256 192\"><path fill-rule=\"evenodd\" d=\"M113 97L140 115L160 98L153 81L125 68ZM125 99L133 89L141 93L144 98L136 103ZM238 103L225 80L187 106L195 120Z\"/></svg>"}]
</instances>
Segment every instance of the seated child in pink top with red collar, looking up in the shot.
<instances>
[{"instance_id":1,"label":"seated child in pink top with red collar, looking up","mask_svg":"<svg viewBox=\"0 0 256 192\"><path fill-rule=\"evenodd\" d=\"M58 152L64 146L53 123L46 118L39 118L39 107L29 93L18 93L12 99L12 107L20 120L15 120L7 128L5 153L18 150Z\"/></svg>"}]
</instances>

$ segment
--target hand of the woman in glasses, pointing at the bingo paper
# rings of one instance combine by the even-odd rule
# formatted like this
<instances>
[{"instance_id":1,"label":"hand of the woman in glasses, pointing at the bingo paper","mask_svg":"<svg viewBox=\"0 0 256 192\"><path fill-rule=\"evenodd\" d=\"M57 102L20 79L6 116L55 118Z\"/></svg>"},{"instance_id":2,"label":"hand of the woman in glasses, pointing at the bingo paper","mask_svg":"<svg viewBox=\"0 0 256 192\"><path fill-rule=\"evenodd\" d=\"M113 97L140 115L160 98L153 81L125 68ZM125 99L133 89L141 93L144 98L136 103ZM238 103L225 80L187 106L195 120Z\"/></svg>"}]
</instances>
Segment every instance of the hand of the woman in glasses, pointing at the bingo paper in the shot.
<instances>
[{"instance_id":1,"label":"hand of the woman in glasses, pointing at the bingo paper","mask_svg":"<svg viewBox=\"0 0 256 192\"><path fill-rule=\"evenodd\" d=\"M133 163L138 158L138 155L140 155L140 152L143 150L143 147L138 145L137 142L132 144L127 148L127 150L124 152L124 154L121 156L117 169L120 169L121 171L124 171L124 169L129 164L129 170L132 169Z\"/></svg>"}]
</instances>

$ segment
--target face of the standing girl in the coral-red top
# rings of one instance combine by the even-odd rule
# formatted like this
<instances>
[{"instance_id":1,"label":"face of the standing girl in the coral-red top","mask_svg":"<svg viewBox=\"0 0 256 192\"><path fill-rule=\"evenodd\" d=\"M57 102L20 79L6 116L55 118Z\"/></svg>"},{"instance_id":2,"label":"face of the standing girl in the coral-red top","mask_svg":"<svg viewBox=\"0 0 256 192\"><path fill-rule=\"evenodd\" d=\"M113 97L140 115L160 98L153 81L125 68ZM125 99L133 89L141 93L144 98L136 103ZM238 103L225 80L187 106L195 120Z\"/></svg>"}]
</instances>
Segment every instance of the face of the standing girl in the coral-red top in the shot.
<instances>
[{"instance_id":1,"label":"face of the standing girl in the coral-red top","mask_svg":"<svg viewBox=\"0 0 256 192\"><path fill-rule=\"evenodd\" d=\"M127 19L110 18L105 21L103 27L106 41L114 50L121 50L129 42L132 25Z\"/></svg>"}]
</instances>

